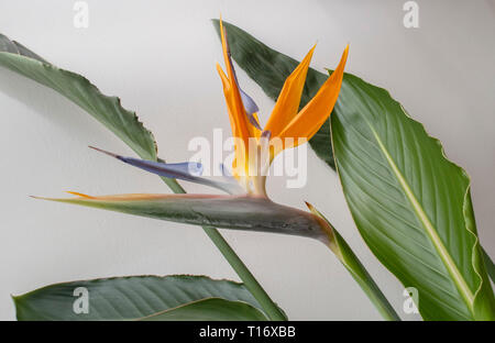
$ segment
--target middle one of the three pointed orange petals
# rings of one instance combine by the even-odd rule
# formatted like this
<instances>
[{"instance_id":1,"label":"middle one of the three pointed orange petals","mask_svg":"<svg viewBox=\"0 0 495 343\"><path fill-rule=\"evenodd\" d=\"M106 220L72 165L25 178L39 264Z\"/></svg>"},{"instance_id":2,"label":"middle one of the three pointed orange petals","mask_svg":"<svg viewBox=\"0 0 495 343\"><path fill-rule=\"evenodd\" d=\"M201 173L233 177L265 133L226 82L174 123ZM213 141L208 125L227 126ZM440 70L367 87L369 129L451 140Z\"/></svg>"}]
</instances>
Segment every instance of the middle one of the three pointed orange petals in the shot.
<instances>
[{"instance_id":1,"label":"middle one of the three pointed orange petals","mask_svg":"<svg viewBox=\"0 0 495 343\"><path fill-rule=\"evenodd\" d=\"M285 80L277 102L272 111L272 115L266 123L265 131L271 131L272 136L278 136L282 130L290 122L299 110L300 97L306 82L309 63L316 45L309 51L306 57L299 63L294 71Z\"/></svg>"}]
</instances>

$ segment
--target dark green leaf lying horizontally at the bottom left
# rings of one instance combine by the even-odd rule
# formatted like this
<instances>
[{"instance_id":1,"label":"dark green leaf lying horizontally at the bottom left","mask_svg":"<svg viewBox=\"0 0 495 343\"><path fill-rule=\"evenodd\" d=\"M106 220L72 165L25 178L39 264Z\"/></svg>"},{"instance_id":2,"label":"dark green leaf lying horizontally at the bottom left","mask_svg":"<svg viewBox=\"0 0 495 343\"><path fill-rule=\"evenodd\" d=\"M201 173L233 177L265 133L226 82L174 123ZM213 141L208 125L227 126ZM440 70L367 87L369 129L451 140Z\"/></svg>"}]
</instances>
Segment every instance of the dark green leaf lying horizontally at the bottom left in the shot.
<instances>
[{"instance_id":1,"label":"dark green leaf lying horizontally at the bottom left","mask_svg":"<svg viewBox=\"0 0 495 343\"><path fill-rule=\"evenodd\" d=\"M74 307L82 308L84 295L80 291L84 289L88 296L88 313L76 313ZM133 320L163 311L172 314L172 310L179 307L211 298L230 300L228 311L218 316L230 313L235 308L238 302L232 305L231 301L242 301L243 314L260 316L254 308L261 307L244 285L190 275L129 276L55 284L13 297L13 300L18 320ZM177 316L200 316L205 311L204 316L213 317L219 302L206 305L194 306L190 310L177 312Z\"/></svg>"}]
</instances>

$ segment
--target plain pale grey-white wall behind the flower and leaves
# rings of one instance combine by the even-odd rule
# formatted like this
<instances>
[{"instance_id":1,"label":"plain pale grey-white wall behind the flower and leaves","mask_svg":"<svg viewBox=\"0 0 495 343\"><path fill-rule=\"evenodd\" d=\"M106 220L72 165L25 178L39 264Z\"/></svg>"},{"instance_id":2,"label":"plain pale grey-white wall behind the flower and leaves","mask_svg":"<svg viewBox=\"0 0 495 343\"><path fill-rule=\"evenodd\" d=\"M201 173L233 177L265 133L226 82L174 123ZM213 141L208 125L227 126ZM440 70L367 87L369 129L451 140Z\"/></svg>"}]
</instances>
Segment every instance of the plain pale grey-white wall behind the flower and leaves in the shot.
<instances>
[{"instance_id":1,"label":"plain pale grey-white wall behind the flower and leaves","mask_svg":"<svg viewBox=\"0 0 495 343\"><path fill-rule=\"evenodd\" d=\"M301 58L318 42L312 66L332 67L348 42L346 71L391 90L439 137L473 178L480 235L495 255L494 1L417 1L420 27L405 29L404 1L87 1L89 27L73 26L67 0L0 3L0 32L55 65L122 98L152 129L160 155L185 161L188 141L229 123L210 23L223 18L268 45ZM266 120L273 102L243 73L240 81ZM201 229L86 208L29 195L166 192L162 181L87 148L130 154L92 118L54 91L0 69L0 319L14 319L10 295L59 281L139 274L233 278ZM185 185L191 192L204 188ZM311 152L309 181L275 200L324 212L405 320L399 283L361 240L336 175ZM375 320L380 314L320 243L223 231L273 298L295 320Z\"/></svg>"}]
</instances>

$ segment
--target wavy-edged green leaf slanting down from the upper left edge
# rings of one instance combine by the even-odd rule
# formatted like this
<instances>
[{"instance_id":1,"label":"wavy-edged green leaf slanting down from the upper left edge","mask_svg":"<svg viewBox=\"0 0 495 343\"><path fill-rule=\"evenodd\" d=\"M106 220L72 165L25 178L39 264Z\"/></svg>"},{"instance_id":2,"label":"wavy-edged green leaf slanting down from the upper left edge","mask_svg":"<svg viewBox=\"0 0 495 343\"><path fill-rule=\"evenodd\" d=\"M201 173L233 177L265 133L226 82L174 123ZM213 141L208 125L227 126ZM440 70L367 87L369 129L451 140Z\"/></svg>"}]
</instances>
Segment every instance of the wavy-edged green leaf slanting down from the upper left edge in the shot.
<instances>
[{"instance_id":1,"label":"wavy-edged green leaf slanting down from the upper left edge","mask_svg":"<svg viewBox=\"0 0 495 343\"><path fill-rule=\"evenodd\" d=\"M101 122L142 158L155 161L153 134L125 110L117 97L107 97L85 77L59 69L20 43L0 34L0 66L52 88Z\"/></svg>"}]
</instances>

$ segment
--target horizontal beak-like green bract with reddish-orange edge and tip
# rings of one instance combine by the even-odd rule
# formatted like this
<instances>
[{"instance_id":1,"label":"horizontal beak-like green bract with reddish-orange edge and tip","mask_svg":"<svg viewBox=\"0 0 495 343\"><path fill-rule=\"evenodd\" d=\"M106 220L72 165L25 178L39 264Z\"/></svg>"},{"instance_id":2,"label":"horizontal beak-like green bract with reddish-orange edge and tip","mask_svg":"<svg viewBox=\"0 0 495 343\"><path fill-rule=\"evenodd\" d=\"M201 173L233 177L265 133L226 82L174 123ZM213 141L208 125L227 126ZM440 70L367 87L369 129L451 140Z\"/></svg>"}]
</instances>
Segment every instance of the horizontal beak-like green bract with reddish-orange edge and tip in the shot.
<instances>
[{"instance_id":1,"label":"horizontal beak-like green bract with reddish-orange edge and tip","mask_svg":"<svg viewBox=\"0 0 495 343\"><path fill-rule=\"evenodd\" d=\"M328 240L314 214L260 197L120 195L46 200L195 225L293 234L323 242Z\"/></svg>"}]
</instances>

